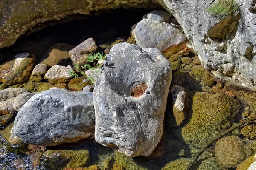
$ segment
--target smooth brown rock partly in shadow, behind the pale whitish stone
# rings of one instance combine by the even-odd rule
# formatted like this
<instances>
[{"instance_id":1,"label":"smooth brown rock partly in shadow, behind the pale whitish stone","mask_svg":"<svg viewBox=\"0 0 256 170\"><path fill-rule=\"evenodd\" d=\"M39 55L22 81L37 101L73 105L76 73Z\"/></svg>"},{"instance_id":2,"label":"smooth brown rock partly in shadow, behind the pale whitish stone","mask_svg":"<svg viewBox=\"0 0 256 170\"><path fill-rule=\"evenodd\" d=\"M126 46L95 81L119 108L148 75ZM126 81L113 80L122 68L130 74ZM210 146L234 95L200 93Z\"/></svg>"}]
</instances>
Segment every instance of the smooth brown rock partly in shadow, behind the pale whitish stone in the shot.
<instances>
[{"instance_id":1,"label":"smooth brown rock partly in shadow, behind the pale whitish stone","mask_svg":"<svg viewBox=\"0 0 256 170\"><path fill-rule=\"evenodd\" d=\"M53 66L53 65L63 65L70 61L70 56L68 52L75 48L74 45L65 43L56 43L52 45L47 51L44 57L41 59L41 63Z\"/></svg>"}]
</instances>

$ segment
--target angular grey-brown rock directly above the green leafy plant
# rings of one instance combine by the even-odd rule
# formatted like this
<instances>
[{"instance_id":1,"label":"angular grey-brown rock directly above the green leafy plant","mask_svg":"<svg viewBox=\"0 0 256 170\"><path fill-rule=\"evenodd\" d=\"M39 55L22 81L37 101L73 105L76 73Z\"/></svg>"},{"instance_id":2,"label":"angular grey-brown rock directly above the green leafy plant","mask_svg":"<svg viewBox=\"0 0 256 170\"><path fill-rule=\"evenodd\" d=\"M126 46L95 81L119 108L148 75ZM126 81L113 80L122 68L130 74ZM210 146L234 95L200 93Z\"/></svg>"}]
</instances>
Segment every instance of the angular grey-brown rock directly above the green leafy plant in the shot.
<instances>
[{"instance_id":1,"label":"angular grey-brown rock directly above the green leafy plant","mask_svg":"<svg viewBox=\"0 0 256 170\"><path fill-rule=\"evenodd\" d=\"M69 55L74 64L83 65L87 62L88 54L95 53L98 50L99 48L96 42L92 38L89 38L69 51Z\"/></svg>"}]
</instances>

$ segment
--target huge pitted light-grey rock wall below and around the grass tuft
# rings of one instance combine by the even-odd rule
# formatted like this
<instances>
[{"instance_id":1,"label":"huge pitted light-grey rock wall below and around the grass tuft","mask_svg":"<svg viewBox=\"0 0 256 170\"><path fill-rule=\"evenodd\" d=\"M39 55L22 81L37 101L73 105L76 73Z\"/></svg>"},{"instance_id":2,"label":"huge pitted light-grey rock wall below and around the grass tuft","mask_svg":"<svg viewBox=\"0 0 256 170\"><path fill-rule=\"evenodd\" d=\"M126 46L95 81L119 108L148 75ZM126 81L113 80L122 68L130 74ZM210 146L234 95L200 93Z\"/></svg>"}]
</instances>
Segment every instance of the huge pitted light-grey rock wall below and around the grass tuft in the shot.
<instances>
[{"instance_id":1,"label":"huge pitted light-grey rock wall below and around the grass tuft","mask_svg":"<svg viewBox=\"0 0 256 170\"><path fill-rule=\"evenodd\" d=\"M212 0L156 1L180 23L205 68L256 90L255 0L235 0L239 13L232 17L209 14Z\"/></svg>"}]
</instances>

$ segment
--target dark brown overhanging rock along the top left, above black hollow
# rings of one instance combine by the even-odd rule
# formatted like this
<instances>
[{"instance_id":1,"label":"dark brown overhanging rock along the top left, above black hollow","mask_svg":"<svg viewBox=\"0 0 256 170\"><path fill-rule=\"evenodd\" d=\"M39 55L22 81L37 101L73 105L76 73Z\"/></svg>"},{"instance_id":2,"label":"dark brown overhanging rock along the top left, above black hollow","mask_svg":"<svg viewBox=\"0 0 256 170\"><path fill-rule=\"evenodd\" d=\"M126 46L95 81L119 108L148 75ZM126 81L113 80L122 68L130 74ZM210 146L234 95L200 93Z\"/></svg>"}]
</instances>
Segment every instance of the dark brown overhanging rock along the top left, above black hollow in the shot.
<instances>
[{"instance_id":1,"label":"dark brown overhanging rock along the top left, above black hollow","mask_svg":"<svg viewBox=\"0 0 256 170\"><path fill-rule=\"evenodd\" d=\"M12 45L37 24L120 7L159 8L151 0L1 0L0 48Z\"/></svg>"}]
</instances>

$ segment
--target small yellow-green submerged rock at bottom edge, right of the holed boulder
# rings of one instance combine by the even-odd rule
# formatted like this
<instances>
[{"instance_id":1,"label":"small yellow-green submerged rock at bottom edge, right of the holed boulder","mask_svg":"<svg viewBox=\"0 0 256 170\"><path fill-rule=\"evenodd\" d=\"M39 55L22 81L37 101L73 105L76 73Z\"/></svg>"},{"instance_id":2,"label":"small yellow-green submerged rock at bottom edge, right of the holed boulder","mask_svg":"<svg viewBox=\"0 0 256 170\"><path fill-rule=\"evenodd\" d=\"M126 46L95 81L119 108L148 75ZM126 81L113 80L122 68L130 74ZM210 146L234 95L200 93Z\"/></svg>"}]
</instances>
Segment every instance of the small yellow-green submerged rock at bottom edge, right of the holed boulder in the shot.
<instances>
[{"instance_id":1,"label":"small yellow-green submerged rock at bottom edge, right of the holed boulder","mask_svg":"<svg viewBox=\"0 0 256 170\"><path fill-rule=\"evenodd\" d=\"M186 170L189 167L192 159L180 158L169 162L162 170Z\"/></svg>"}]
</instances>

